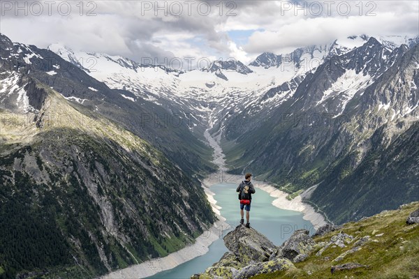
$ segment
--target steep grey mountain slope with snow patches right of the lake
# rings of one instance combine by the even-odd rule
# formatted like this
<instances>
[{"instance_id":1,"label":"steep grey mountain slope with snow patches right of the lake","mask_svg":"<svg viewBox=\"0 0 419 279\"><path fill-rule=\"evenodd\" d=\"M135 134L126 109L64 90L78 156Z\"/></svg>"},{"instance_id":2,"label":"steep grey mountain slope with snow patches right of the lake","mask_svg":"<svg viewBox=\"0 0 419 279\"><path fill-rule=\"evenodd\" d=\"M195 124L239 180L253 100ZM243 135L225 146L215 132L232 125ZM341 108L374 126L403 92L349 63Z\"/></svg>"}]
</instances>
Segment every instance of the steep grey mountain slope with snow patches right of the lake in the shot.
<instances>
[{"instance_id":1,"label":"steep grey mountain slope with snow patches right of the lake","mask_svg":"<svg viewBox=\"0 0 419 279\"><path fill-rule=\"evenodd\" d=\"M307 198L337 223L418 200L418 65L419 45L374 38L330 56L270 119L226 123L228 163L290 193L316 185Z\"/></svg>"}]
</instances>

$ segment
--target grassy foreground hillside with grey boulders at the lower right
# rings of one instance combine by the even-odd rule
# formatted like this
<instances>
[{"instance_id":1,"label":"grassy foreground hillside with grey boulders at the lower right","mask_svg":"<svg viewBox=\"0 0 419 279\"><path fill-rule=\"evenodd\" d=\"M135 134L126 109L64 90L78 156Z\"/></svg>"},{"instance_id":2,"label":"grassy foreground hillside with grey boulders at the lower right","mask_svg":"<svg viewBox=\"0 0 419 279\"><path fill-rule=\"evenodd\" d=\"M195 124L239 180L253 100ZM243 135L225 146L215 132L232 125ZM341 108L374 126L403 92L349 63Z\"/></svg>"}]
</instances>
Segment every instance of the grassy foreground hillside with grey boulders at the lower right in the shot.
<instances>
[{"instance_id":1,"label":"grassy foreground hillside with grey boulders at the lower right","mask_svg":"<svg viewBox=\"0 0 419 279\"><path fill-rule=\"evenodd\" d=\"M372 278L376 274L399 278L404 273L408 275L406 278L416 278L416 266L399 266L394 262L409 263L417 258L417 251L411 246L418 241L418 225L406 225L404 221L418 204L344 224L338 231L317 238L317 242L307 230L300 229L279 247L271 245L256 229L238 226L224 237L230 252L193 278L318 279L329 278L330 272L339 278ZM415 218L415 214L410 215ZM253 259L243 253L249 253Z\"/></svg>"}]
</instances>

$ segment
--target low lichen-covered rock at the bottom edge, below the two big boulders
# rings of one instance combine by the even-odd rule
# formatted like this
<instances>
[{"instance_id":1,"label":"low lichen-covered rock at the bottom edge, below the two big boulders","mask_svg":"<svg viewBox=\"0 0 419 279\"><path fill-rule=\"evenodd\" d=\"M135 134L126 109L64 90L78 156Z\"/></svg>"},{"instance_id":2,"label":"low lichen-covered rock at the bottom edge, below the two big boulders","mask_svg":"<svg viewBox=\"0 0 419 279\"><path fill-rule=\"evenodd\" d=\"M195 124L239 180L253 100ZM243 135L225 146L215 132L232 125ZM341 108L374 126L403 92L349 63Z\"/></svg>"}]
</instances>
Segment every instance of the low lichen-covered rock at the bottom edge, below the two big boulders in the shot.
<instances>
[{"instance_id":1,"label":"low lichen-covered rock at the bottom edge, below the two big boulders","mask_svg":"<svg viewBox=\"0 0 419 279\"><path fill-rule=\"evenodd\" d=\"M277 258L268 262L260 262L258 264L250 264L249 266L240 269L240 271L233 277L234 279L251 278L258 274L272 273L275 271L282 271L288 269L295 269L294 264L289 259Z\"/></svg>"}]
</instances>

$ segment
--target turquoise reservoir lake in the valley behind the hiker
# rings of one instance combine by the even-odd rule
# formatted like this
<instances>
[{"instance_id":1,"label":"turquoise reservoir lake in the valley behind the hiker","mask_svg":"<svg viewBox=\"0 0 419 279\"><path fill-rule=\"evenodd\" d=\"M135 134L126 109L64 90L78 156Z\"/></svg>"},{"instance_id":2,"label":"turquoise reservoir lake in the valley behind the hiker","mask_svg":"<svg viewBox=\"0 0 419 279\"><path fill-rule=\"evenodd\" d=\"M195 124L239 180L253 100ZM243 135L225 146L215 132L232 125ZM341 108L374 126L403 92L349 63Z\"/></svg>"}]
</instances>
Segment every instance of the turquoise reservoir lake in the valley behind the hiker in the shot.
<instances>
[{"instance_id":1,"label":"turquoise reservoir lake in the valley behind the hiker","mask_svg":"<svg viewBox=\"0 0 419 279\"><path fill-rule=\"evenodd\" d=\"M148 279L186 279L195 273L205 271L209 266L218 262L222 255L227 252L222 237L240 223L240 204L237 199L235 183L217 183L210 190L215 194L217 205L221 206L221 216L226 218L229 227L220 231L220 238L209 247L210 250L200 257L191 259L189 262L180 264L174 269L163 271ZM313 225L302 218L302 213L279 209L272 205L274 200L268 193L256 188L252 195L250 225L258 232L267 236L270 241L279 246L297 229L308 229L310 234L314 232Z\"/></svg>"}]
</instances>

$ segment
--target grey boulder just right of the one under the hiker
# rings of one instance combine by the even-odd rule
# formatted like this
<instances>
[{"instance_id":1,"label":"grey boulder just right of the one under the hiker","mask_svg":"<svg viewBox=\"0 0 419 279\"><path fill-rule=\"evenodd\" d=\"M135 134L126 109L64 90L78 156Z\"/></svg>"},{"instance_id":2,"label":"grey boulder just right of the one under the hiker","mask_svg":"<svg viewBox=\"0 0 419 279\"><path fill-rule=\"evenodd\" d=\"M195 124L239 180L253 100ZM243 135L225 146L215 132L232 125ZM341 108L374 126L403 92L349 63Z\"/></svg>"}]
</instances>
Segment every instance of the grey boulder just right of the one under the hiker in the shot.
<instances>
[{"instance_id":1,"label":"grey boulder just right of the one under the hiker","mask_svg":"<svg viewBox=\"0 0 419 279\"><path fill-rule=\"evenodd\" d=\"M309 255L315 245L316 243L309 236L309 231L299 229L281 245L277 257L286 257L293 262L301 262L306 256L300 255Z\"/></svg>"}]
</instances>

